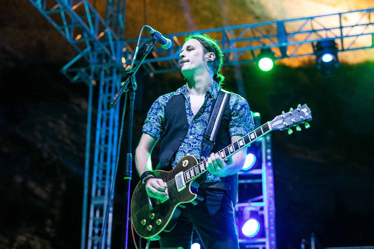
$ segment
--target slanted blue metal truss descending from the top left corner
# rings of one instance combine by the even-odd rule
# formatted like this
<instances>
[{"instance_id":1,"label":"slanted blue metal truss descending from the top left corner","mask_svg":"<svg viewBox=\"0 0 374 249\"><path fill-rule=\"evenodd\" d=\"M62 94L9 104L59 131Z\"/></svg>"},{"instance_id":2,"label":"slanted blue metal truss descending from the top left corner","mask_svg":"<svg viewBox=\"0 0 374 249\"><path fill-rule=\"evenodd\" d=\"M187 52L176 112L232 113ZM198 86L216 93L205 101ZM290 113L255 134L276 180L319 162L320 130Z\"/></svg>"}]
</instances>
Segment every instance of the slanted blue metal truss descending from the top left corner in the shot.
<instances>
[{"instance_id":1,"label":"slanted blue metal truss descending from the top left corner","mask_svg":"<svg viewBox=\"0 0 374 249\"><path fill-rule=\"evenodd\" d=\"M88 0L29 1L77 50L79 58L98 63L97 55L104 54L108 62L116 62L120 50L118 35Z\"/></svg>"}]
</instances>

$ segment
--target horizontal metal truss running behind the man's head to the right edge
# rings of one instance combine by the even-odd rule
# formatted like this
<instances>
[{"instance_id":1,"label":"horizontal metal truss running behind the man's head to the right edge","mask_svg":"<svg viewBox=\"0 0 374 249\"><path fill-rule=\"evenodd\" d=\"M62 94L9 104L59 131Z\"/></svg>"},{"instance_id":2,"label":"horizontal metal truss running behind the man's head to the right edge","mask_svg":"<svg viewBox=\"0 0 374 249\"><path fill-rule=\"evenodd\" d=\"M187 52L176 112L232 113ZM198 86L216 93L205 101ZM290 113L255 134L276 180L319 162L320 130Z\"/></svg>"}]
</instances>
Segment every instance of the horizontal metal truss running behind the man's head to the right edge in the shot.
<instances>
[{"instance_id":1,"label":"horizontal metal truss running behind the man's head to the right edge","mask_svg":"<svg viewBox=\"0 0 374 249\"><path fill-rule=\"evenodd\" d=\"M179 51L184 37L205 33L218 40L225 55L224 65L252 63L261 49L271 48L276 59L313 55L313 43L334 39L338 51L369 49L374 47L374 8L282 21L260 22L230 27L205 29L187 33L165 35L172 41L168 50L153 49L152 59L144 60L150 73L180 70ZM142 45L151 38L143 37ZM135 47L137 39L125 40L126 46ZM150 66L151 64L152 66Z\"/></svg>"}]
</instances>

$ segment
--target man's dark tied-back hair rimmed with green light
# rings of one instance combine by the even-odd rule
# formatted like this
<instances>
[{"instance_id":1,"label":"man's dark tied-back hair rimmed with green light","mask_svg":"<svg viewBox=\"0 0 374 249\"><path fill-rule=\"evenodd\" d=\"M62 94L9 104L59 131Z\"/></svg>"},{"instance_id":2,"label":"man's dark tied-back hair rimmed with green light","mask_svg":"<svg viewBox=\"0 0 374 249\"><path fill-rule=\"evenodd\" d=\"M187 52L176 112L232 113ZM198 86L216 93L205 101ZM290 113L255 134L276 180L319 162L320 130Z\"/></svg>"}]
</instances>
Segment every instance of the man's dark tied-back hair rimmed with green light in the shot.
<instances>
[{"instance_id":1,"label":"man's dark tied-back hair rimmed with green light","mask_svg":"<svg viewBox=\"0 0 374 249\"><path fill-rule=\"evenodd\" d=\"M217 41L206 34L192 34L188 35L186 39L184 39L184 42L191 39L198 40L203 45L203 50L205 53L213 52L215 54L215 60L208 62L208 66L213 69L213 80L221 85L225 80L225 77L220 74L223 64L223 53L221 48L218 46Z\"/></svg>"}]
</instances>

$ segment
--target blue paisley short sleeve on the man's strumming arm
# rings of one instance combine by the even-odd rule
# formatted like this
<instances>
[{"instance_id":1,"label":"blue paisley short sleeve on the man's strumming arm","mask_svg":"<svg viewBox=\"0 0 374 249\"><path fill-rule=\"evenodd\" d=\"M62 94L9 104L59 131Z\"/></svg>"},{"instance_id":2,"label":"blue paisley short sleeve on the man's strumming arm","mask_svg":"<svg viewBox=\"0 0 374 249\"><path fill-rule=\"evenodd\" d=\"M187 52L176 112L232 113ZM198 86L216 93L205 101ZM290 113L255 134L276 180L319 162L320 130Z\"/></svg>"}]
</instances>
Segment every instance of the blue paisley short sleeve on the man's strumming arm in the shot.
<instances>
[{"instance_id":1,"label":"blue paisley short sleeve on the man's strumming arm","mask_svg":"<svg viewBox=\"0 0 374 249\"><path fill-rule=\"evenodd\" d=\"M165 106L168 103L172 93L165 94L152 104L147 113L147 118L144 121L142 128L143 133L150 136L161 138L165 131Z\"/></svg>"}]
</instances>

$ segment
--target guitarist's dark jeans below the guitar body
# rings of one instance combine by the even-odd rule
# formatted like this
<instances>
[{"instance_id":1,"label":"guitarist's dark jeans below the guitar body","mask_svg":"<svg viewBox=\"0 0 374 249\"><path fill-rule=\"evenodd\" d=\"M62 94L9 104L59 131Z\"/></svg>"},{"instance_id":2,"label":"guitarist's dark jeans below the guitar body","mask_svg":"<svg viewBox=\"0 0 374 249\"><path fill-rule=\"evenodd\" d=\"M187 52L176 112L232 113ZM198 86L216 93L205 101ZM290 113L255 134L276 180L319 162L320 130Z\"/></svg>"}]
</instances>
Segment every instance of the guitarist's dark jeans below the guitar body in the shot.
<instances>
[{"instance_id":1,"label":"guitarist's dark jeans below the guitar body","mask_svg":"<svg viewBox=\"0 0 374 249\"><path fill-rule=\"evenodd\" d=\"M175 227L162 239L163 249L190 249L193 229L205 249L238 249L239 242L230 197L223 190L199 189L204 200L184 208Z\"/></svg>"}]
</instances>

